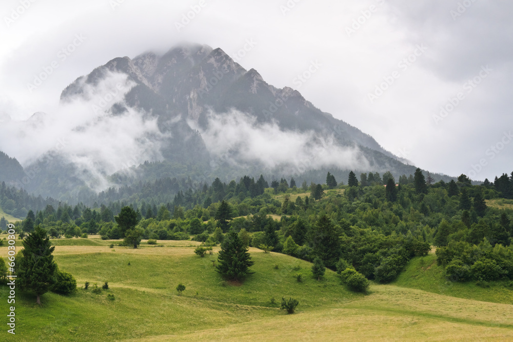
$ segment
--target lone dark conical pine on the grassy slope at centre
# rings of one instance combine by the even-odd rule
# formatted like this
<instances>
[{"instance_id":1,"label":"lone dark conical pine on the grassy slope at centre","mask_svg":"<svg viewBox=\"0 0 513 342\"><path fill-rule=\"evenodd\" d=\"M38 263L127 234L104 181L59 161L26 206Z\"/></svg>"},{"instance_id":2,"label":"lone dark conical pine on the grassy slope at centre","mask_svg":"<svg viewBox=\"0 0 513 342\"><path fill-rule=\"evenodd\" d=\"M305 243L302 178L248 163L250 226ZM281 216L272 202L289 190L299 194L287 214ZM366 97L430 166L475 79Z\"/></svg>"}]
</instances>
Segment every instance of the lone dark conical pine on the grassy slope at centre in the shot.
<instances>
[{"instance_id":1,"label":"lone dark conical pine on the grassy slope at centre","mask_svg":"<svg viewBox=\"0 0 513 342\"><path fill-rule=\"evenodd\" d=\"M242 281L247 275L254 273L249 271L253 264L248 248L237 233L231 230L221 244L216 271L228 280Z\"/></svg>"}]
</instances>

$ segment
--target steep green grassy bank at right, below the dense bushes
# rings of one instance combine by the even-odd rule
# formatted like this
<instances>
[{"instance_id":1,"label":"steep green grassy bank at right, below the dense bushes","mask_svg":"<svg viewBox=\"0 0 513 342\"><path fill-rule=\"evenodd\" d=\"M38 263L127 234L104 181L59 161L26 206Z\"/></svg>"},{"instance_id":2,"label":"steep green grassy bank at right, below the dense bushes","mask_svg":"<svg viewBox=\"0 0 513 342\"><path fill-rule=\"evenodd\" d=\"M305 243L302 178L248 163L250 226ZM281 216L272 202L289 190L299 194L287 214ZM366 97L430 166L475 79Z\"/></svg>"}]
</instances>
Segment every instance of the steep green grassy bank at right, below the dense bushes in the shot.
<instances>
[{"instance_id":1,"label":"steep green grassy bank at right, below the dense bushes","mask_svg":"<svg viewBox=\"0 0 513 342\"><path fill-rule=\"evenodd\" d=\"M476 281L449 281L444 276L443 267L437 265L435 254L411 259L393 284L447 296L513 304L511 281L493 281L488 284L489 287L480 287Z\"/></svg>"}]
</instances>

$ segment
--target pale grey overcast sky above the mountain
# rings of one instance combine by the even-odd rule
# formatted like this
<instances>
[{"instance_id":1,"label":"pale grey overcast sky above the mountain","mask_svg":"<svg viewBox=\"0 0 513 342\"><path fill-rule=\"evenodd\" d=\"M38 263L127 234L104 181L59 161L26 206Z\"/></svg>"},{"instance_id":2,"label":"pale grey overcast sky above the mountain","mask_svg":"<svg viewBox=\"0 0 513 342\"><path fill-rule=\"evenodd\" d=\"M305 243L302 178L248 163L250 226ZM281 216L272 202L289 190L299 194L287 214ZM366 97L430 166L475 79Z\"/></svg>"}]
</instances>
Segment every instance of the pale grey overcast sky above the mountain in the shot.
<instances>
[{"instance_id":1,"label":"pale grey overcast sky above the mountain","mask_svg":"<svg viewBox=\"0 0 513 342\"><path fill-rule=\"evenodd\" d=\"M416 166L492 180L513 171L512 13L484 0L3 0L0 125L54 111L112 58L194 42Z\"/></svg>"}]
</instances>

